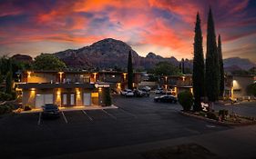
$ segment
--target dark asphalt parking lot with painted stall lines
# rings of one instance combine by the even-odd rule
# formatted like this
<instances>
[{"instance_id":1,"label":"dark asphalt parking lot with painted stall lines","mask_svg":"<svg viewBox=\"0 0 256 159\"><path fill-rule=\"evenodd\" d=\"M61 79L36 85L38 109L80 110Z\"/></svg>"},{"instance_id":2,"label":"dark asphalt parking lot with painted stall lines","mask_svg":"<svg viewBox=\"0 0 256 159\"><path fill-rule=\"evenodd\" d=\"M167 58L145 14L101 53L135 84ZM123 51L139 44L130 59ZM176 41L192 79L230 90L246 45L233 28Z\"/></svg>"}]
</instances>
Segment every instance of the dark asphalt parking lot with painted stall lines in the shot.
<instances>
[{"instance_id":1,"label":"dark asphalt parking lot with painted stall lines","mask_svg":"<svg viewBox=\"0 0 256 159\"><path fill-rule=\"evenodd\" d=\"M9 158L50 157L122 145L142 144L230 129L182 116L179 104L153 97L113 97L118 109L61 112L56 120L40 113L0 118L0 153Z\"/></svg>"}]
</instances>

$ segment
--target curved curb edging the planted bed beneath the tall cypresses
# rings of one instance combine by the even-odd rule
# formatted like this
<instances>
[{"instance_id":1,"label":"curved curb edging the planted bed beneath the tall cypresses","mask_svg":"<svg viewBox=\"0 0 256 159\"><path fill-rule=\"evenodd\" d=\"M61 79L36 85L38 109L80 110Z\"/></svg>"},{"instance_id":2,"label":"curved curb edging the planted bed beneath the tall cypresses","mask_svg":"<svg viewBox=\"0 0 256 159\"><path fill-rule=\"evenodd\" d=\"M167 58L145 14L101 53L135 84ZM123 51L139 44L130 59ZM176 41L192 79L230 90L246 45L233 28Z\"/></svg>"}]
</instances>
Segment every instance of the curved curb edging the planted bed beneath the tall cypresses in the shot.
<instances>
[{"instance_id":1,"label":"curved curb edging the planted bed beneath the tall cypresses","mask_svg":"<svg viewBox=\"0 0 256 159\"><path fill-rule=\"evenodd\" d=\"M238 123L238 124L224 123L224 122L220 122L220 121L217 121L214 119L209 119L209 118L198 116L195 114L188 114L188 113L181 112L181 111L179 111L179 114L182 114L184 116L194 117L194 118L197 118L197 119L200 119L200 120L212 123L212 124L220 124L220 125L224 125L224 126L247 126L247 125L251 125L251 124L256 124L256 121L253 121L250 123Z\"/></svg>"}]
</instances>

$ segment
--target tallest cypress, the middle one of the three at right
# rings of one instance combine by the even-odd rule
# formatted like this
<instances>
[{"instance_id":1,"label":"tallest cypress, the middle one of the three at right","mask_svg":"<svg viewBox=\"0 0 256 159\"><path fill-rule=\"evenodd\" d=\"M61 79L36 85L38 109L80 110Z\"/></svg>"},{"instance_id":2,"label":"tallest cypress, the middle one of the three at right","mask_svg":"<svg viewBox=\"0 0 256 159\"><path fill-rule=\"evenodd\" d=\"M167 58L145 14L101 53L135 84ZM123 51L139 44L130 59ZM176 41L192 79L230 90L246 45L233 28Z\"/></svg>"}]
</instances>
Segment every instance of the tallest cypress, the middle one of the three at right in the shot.
<instances>
[{"instance_id":1,"label":"tallest cypress, the middle one of the three at right","mask_svg":"<svg viewBox=\"0 0 256 159\"><path fill-rule=\"evenodd\" d=\"M215 102L219 97L220 90L220 65L217 53L216 35L211 9L207 24L207 49L206 49L206 94L210 102Z\"/></svg>"}]
</instances>

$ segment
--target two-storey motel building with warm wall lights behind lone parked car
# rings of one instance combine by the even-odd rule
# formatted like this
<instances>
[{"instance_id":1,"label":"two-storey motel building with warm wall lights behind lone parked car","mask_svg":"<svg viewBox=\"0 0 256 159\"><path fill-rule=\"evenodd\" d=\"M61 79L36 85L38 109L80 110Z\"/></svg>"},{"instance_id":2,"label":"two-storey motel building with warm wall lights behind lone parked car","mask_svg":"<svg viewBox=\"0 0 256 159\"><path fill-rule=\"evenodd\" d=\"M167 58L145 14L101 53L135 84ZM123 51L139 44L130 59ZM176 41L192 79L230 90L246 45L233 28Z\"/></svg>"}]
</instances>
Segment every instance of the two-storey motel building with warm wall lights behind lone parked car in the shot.
<instances>
[{"instance_id":1,"label":"two-storey motel building with warm wall lights behind lone parked car","mask_svg":"<svg viewBox=\"0 0 256 159\"><path fill-rule=\"evenodd\" d=\"M26 71L16 91L23 106L39 109L44 104L60 107L105 106L110 84L98 82L97 73Z\"/></svg>"}]
</instances>

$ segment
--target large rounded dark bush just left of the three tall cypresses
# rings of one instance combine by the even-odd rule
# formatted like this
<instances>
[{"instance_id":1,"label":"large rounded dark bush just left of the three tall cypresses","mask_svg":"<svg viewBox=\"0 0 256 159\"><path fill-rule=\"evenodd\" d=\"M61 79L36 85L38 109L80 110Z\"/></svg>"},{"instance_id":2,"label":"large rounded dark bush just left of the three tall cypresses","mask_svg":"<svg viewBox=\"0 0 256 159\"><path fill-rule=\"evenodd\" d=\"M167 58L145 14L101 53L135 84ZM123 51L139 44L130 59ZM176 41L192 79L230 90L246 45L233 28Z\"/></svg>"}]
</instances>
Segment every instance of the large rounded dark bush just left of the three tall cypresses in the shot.
<instances>
[{"instance_id":1,"label":"large rounded dark bush just left of the three tall cypresses","mask_svg":"<svg viewBox=\"0 0 256 159\"><path fill-rule=\"evenodd\" d=\"M191 94L189 91L179 93L178 100L184 111L189 111L194 103L193 94Z\"/></svg>"}]
</instances>

